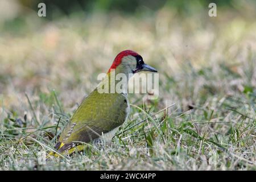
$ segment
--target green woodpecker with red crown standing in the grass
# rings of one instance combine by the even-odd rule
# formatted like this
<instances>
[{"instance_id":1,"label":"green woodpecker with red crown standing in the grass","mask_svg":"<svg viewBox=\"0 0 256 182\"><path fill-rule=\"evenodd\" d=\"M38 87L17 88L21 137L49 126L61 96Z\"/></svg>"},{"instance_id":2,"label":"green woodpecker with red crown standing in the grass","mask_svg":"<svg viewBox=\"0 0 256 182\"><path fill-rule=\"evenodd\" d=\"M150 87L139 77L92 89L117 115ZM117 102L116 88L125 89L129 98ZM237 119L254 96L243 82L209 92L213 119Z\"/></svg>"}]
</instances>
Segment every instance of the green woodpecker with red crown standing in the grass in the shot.
<instances>
[{"instance_id":1,"label":"green woodpecker with red crown standing in the grass","mask_svg":"<svg viewBox=\"0 0 256 182\"><path fill-rule=\"evenodd\" d=\"M60 153L82 150L81 142L92 142L102 136L112 138L129 115L130 105L127 100L127 90L123 93L100 93L98 88L110 81L110 73L123 73L129 80L129 75L141 71L157 72L155 68L144 63L142 56L130 50L122 51L115 57L106 77L101 81L77 108L67 126L60 135L55 149ZM126 83L127 84L127 83ZM109 84L111 87L112 85ZM125 87L127 89L127 86ZM52 155L51 152L50 155Z\"/></svg>"}]
</instances>

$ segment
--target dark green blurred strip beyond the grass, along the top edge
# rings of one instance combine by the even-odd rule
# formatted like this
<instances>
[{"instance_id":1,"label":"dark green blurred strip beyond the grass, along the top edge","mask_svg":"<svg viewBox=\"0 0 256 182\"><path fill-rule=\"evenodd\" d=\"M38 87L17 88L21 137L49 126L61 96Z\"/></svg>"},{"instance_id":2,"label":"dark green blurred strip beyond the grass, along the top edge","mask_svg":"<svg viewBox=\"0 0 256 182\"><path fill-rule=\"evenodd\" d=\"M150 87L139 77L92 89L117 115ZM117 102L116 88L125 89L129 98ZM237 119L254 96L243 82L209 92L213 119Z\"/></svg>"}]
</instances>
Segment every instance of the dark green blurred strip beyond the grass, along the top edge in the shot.
<instances>
[{"instance_id":1,"label":"dark green blurred strip beyond the grass, along the top edge","mask_svg":"<svg viewBox=\"0 0 256 182\"><path fill-rule=\"evenodd\" d=\"M118 0L19 0L19 2L29 7L30 9L36 10L38 3L44 2L48 5L48 13L54 14L53 12L56 10L61 11L64 14L71 14L75 11L86 11L92 13L93 11L104 11L105 13L109 13L110 11L119 11L121 13L140 13L139 11L157 11L162 7L168 7L170 9L177 10L181 14L187 14L193 12L195 9L200 9L202 7L207 7L209 3L217 3L218 7L226 7L226 8L234 8L240 9L241 2L237 0L196 0L196 1L171 1L171 0L131 0L131 1L118 1ZM247 3L254 3L254 1L247 1Z\"/></svg>"}]
</instances>

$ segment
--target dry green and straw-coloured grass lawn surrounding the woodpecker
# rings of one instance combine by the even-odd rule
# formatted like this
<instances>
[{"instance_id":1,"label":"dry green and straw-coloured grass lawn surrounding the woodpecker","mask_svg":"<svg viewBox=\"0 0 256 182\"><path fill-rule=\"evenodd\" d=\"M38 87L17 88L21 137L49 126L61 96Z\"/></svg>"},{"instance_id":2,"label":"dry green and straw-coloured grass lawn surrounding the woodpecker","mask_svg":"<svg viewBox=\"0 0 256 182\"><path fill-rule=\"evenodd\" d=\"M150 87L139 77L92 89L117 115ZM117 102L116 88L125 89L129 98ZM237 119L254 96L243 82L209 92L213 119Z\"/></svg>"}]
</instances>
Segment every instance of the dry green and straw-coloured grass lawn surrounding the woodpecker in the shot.
<instances>
[{"instance_id":1,"label":"dry green and straw-coloured grass lawn surrounding the woodpecker","mask_svg":"<svg viewBox=\"0 0 256 182\"><path fill-rule=\"evenodd\" d=\"M77 14L52 22L29 14L16 32L3 24L0 169L34 169L97 74L119 51L134 49L160 73L158 100L131 94L129 119L112 143L38 169L255 170L256 22L245 10L218 12Z\"/></svg>"}]
</instances>

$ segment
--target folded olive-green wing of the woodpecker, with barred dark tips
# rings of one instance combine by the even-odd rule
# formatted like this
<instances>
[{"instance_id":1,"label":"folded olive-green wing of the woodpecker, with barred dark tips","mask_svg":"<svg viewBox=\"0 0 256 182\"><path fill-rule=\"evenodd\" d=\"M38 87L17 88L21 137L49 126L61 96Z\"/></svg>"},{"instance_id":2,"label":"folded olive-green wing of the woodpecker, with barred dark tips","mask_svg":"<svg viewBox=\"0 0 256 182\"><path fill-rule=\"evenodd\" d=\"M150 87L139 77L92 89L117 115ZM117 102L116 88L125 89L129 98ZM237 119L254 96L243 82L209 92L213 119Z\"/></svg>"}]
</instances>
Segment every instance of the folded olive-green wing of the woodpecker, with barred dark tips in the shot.
<instances>
[{"instance_id":1,"label":"folded olive-green wing of the woodpecker, with barred dark tips","mask_svg":"<svg viewBox=\"0 0 256 182\"><path fill-rule=\"evenodd\" d=\"M127 117L127 98L117 93L94 90L82 101L56 144L60 152L75 146L73 142L90 142L122 125Z\"/></svg>"}]
</instances>

